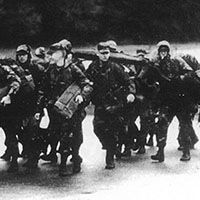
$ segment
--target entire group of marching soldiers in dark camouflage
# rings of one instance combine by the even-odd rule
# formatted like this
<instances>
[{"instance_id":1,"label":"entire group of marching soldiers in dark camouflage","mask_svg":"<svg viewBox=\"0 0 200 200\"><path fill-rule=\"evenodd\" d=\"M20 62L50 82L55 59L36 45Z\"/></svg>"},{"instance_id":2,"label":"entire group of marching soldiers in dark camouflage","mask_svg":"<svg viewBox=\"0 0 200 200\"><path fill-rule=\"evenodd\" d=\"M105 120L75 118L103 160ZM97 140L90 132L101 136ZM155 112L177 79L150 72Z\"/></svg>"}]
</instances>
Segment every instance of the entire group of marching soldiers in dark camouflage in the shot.
<instances>
[{"instance_id":1,"label":"entire group of marching soldiers in dark camouflage","mask_svg":"<svg viewBox=\"0 0 200 200\"><path fill-rule=\"evenodd\" d=\"M86 68L84 55L77 56L66 39L48 51L37 48L34 59L29 45L18 46L16 59L0 60L0 126L6 136L1 159L10 162L8 172L19 170L18 157L26 159L23 167L36 169L39 159L57 163L57 153L60 176L80 172L82 121L90 103L94 133L106 150L106 169L115 168L115 159L131 156L131 151L144 154L154 135L158 151L151 159L163 162L174 116L179 120L180 160L189 161L198 142L192 120L200 101L200 64L190 55L170 53L170 44L161 41L155 55L147 58L145 50L138 50L133 62L126 63L111 59L127 54L110 40L97 45Z\"/></svg>"}]
</instances>

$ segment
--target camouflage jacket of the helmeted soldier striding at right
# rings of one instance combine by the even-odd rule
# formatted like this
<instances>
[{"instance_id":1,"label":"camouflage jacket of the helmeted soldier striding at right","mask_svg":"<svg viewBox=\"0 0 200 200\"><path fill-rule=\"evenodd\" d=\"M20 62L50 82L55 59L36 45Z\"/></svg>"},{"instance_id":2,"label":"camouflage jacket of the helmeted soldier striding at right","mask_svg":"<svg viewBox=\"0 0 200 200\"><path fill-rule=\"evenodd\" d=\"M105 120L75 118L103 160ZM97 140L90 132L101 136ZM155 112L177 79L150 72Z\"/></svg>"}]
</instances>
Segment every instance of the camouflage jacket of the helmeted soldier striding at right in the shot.
<instances>
[{"instance_id":1,"label":"camouflage jacket of the helmeted soldier striding at right","mask_svg":"<svg viewBox=\"0 0 200 200\"><path fill-rule=\"evenodd\" d=\"M166 105L174 105L182 97L189 96L187 80L195 76L192 68L181 58L168 55L163 60L152 60L154 71L149 78L159 84L157 98Z\"/></svg>"}]
</instances>

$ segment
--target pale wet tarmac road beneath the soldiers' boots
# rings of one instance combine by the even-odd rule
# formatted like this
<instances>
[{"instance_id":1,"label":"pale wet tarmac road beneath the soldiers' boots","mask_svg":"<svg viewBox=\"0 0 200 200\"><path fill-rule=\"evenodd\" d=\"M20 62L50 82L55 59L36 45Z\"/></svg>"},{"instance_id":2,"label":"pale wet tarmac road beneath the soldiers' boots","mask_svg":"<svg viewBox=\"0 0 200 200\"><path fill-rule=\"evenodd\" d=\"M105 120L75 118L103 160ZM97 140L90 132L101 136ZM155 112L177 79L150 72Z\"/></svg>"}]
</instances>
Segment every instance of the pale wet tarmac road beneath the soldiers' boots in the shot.
<instances>
[{"instance_id":1,"label":"pale wet tarmac road beneath the soldiers' boots","mask_svg":"<svg viewBox=\"0 0 200 200\"><path fill-rule=\"evenodd\" d=\"M40 160L39 169L26 171L21 158L19 172L8 174L8 163L0 160L0 199L3 200L106 200L106 199L199 199L200 144L191 151L189 162L180 162L177 151L178 122L170 125L166 159L164 163L152 162L150 155L156 147L147 147L147 153L116 161L114 170L105 170L105 151L93 133L92 116L84 120L84 143L82 171L67 177L58 176L58 164ZM199 125L194 122L200 137ZM0 155L5 150L4 134L0 132ZM71 170L68 162L68 169Z\"/></svg>"}]
</instances>

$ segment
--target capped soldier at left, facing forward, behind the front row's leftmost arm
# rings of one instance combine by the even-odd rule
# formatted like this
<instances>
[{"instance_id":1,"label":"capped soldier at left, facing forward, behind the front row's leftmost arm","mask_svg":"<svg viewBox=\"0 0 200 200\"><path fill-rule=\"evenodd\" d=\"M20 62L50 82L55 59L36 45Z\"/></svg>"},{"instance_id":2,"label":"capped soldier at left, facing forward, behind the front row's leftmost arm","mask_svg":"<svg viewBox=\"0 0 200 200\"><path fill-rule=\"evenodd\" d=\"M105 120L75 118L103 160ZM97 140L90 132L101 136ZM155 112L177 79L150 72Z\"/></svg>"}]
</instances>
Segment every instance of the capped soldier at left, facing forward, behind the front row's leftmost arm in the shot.
<instances>
[{"instance_id":1,"label":"capped soldier at left, facing forward, behind the front row's leftmost arm","mask_svg":"<svg viewBox=\"0 0 200 200\"><path fill-rule=\"evenodd\" d=\"M38 143L39 127L34 116L37 108L38 88L43 77L44 67L32 62L31 47L27 44L17 47L16 62L24 70L26 80L33 86L33 90L23 92L18 96L19 105L21 105L19 140L23 145L22 156L28 157L28 161L23 166L36 168L40 149Z\"/></svg>"}]
</instances>

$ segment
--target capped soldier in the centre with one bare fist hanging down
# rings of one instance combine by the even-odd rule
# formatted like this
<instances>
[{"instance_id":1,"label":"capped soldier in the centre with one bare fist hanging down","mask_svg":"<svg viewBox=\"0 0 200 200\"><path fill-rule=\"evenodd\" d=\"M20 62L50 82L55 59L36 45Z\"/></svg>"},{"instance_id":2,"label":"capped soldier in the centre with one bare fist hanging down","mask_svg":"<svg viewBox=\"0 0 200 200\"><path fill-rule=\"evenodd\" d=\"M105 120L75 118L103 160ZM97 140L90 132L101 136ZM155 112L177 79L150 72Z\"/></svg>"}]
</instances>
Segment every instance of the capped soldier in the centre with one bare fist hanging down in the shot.
<instances>
[{"instance_id":1,"label":"capped soldier in the centre with one bare fist hanging down","mask_svg":"<svg viewBox=\"0 0 200 200\"><path fill-rule=\"evenodd\" d=\"M126 99L126 92L124 94L123 89L127 89L129 103L134 102L136 91L122 67L109 60L108 44L99 43L97 50L98 59L90 64L86 74L93 82L94 89L92 93L92 103L95 105L94 133L100 140L102 148L106 149L105 168L113 169L118 134L123 124L123 115L120 113L120 108L124 104L123 97Z\"/></svg>"}]
</instances>

